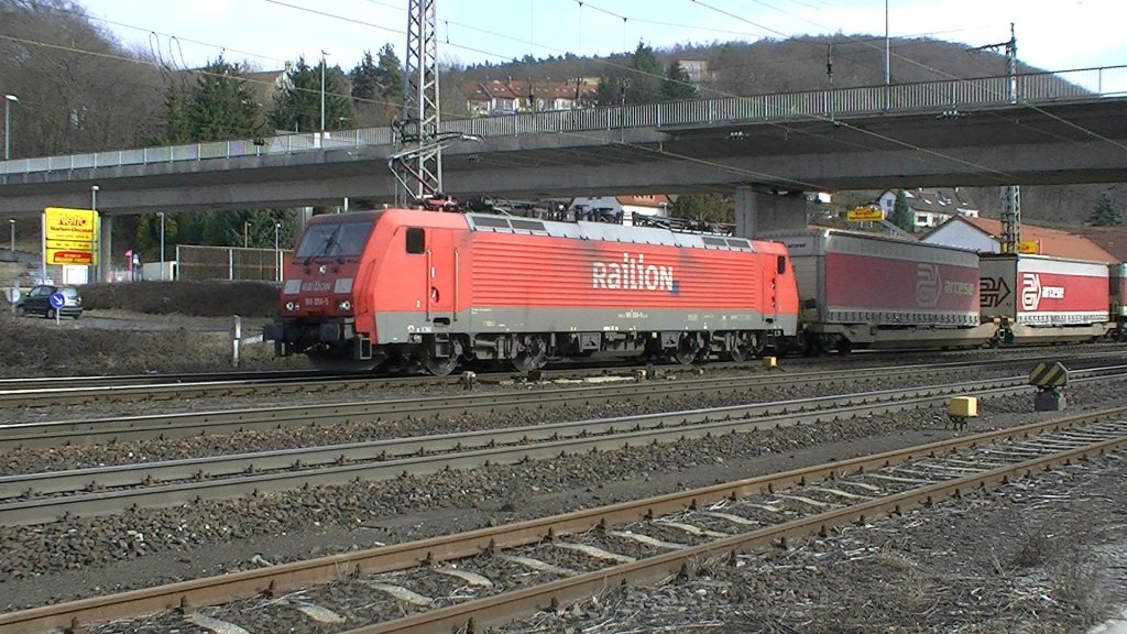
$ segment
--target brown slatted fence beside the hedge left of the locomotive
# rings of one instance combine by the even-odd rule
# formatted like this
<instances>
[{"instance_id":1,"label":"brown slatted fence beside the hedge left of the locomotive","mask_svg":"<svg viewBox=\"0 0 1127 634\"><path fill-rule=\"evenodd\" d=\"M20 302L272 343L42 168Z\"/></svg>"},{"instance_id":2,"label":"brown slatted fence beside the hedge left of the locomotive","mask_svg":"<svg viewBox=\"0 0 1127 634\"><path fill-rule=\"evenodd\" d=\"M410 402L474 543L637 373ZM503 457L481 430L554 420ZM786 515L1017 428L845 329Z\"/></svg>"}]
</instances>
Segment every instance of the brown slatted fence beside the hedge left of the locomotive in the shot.
<instances>
[{"instance_id":1,"label":"brown slatted fence beside the hedge left of the locomotive","mask_svg":"<svg viewBox=\"0 0 1127 634\"><path fill-rule=\"evenodd\" d=\"M277 282L290 255L284 249L178 245L176 279Z\"/></svg>"}]
</instances>

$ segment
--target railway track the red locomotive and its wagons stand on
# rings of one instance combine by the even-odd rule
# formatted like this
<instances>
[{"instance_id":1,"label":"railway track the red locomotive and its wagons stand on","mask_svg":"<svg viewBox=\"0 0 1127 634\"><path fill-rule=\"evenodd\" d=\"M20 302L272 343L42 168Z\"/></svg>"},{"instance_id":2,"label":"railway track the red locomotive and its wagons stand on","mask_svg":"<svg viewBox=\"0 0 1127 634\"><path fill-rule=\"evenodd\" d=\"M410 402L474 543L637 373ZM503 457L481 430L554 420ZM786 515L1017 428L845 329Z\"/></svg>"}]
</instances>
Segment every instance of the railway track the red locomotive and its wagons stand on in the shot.
<instances>
[{"instance_id":1,"label":"railway track the red locomotive and its wagons stand on","mask_svg":"<svg viewBox=\"0 0 1127 634\"><path fill-rule=\"evenodd\" d=\"M1103 346L1093 346L1101 349ZM947 363L912 363L897 362L896 355L877 353L869 356L855 355L843 360L848 366L842 371L854 372L868 367L870 371L881 368L898 370L920 370L928 367L976 367L976 366L1020 366L1045 360L1083 361L1116 356L1121 350L1108 346L1110 350L1088 350L1062 354L1051 346L1037 346L1030 350L1009 351L999 359L996 353L984 351L959 351L943 353L943 356L966 356L971 354L990 354L986 360L951 361ZM863 359L862 359L863 358ZM900 356L903 359L903 355ZM877 366L873 363L890 363ZM811 363L805 359L793 359L789 364L802 368ZM754 370L758 366L749 363L710 363L709 372L727 370ZM606 373L633 376L641 370L653 370L648 367L621 366L615 368L569 366L550 370L553 378L585 378ZM680 366L658 366L659 372L678 372L685 370ZM482 384L513 380L513 372L489 372L478 376ZM427 376L369 376L369 375L327 375L325 372L282 371L282 372L215 372L195 375L139 375L126 377L50 377L35 379L0 379L0 405L7 408L39 408L52 406L88 405L92 403L128 403L153 400L183 400L196 398L223 398L247 395L287 395L287 394L336 394L390 390L397 388L423 388L435 386L456 386L458 377Z\"/></svg>"}]
</instances>

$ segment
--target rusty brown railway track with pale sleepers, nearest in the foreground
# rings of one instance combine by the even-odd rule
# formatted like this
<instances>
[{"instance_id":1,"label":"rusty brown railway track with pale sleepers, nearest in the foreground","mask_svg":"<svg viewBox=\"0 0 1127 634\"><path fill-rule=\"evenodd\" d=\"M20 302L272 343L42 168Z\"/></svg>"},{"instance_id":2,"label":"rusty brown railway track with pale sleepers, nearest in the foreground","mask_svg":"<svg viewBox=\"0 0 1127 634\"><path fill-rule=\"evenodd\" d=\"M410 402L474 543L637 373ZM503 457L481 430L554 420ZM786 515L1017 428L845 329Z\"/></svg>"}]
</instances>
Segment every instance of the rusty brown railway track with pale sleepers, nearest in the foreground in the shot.
<instances>
[{"instance_id":1,"label":"rusty brown railway track with pale sleepers, nearest in the foreground","mask_svg":"<svg viewBox=\"0 0 1127 634\"><path fill-rule=\"evenodd\" d=\"M974 434L647 500L0 615L0 633L480 632L619 583L1122 451L1127 408ZM151 615L151 616L141 616ZM98 622L114 622L99 626ZM304 625L300 625L300 624Z\"/></svg>"}]
</instances>

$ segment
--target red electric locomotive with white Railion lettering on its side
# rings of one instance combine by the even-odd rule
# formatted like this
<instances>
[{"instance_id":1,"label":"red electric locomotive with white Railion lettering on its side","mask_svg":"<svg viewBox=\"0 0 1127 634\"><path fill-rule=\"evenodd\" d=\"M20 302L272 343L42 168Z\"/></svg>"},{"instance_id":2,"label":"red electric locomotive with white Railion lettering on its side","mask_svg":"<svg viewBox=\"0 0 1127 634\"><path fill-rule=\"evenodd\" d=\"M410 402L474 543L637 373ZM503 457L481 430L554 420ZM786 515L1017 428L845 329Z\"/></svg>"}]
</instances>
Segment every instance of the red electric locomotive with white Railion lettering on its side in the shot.
<instances>
[{"instance_id":1,"label":"red electric locomotive with white Railion lettering on its side","mask_svg":"<svg viewBox=\"0 0 1127 634\"><path fill-rule=\"evenodd\" d=\"M473 360L740 360L797 323L779 244L388 209L310 221L266 337L319 367L446 375Z\"/></svg>"}]
</instances>

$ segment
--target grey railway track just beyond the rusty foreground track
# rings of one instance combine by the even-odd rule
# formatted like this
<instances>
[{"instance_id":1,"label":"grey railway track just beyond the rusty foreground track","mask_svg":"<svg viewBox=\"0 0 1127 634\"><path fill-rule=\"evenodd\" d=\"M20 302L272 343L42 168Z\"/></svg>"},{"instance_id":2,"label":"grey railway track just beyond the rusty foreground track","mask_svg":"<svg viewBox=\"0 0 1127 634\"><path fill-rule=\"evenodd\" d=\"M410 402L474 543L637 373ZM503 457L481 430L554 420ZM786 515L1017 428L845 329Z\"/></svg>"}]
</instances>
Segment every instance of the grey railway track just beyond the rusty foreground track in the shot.
<instances>
[{"instance_id":1,"label":"grey railway track just beyond the rusty foreground track","mask_svg":"<svg viewBox=\"0 0 1127 634\"><path fill-rule=\"evenodd\" d=\"M1074 382L1127 375L1127 367L1075 372ZM0 477L0 525L168 508L193 501L266 495L307 486L344 485L487 464L615 450L690 438L747 433L941 405L952 395L1029 391L1026 377L964 381L660 414L526 425L328 447L190 458Z\"/></svg>"}]
</instances>

